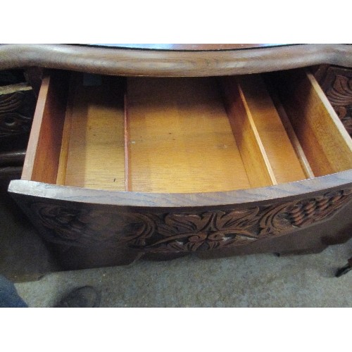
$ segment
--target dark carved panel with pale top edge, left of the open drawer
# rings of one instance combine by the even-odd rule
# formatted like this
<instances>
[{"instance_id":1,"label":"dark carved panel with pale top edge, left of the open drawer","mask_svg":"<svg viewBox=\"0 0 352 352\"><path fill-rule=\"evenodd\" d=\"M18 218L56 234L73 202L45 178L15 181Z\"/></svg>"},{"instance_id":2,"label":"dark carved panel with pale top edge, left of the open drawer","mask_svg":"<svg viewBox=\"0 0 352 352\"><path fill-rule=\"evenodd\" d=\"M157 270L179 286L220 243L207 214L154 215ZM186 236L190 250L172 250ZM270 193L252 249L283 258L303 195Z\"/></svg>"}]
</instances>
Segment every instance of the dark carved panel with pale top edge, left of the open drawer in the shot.
<instances>
[{"instance_id":1,"label":"dark carved panel with pale top edge, left of the open drawer","mask_svg":"<svg viewBox=\"0 0 352 352\"><path fill-rule=\"evenodd\" d=\"M27 84L0 87L0 137L28 134L36 99Z\"/></svg>"}]
</instances>

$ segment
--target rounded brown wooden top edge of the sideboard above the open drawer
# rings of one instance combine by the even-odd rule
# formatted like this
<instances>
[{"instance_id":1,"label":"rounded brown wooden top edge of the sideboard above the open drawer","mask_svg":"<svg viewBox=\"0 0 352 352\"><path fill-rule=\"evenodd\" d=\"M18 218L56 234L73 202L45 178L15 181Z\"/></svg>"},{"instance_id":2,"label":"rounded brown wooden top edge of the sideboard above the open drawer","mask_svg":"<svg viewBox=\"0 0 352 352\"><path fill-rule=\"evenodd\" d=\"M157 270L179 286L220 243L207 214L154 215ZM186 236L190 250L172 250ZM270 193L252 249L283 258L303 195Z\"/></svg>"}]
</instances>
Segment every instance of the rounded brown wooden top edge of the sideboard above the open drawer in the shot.
<instances>
[{"instance_id":1,"label":"rounded brown wooden top edge of the sideboard above the open drawer","mask_svg":"<svg viewBox=\"0 0 352 352\"><path fill-rule=\"evenodd\" d=\"M244 75L329 63L352 67L352 46L297 44L222 51L128 50L65 44L0 45L0 70L35 67L103 75Z\"/></svg>"}]
</instances>

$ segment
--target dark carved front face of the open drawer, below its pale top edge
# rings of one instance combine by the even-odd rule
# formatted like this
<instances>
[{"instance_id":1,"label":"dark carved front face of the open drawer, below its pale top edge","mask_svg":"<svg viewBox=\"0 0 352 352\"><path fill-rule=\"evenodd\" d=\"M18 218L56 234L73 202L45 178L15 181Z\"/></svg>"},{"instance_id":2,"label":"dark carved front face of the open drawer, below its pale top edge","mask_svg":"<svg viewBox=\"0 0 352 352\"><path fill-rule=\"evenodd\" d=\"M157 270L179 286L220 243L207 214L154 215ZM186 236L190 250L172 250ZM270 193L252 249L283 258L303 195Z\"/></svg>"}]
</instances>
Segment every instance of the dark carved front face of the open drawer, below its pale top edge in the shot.
<instances>
[{"instance_id":1,"label":"dark carved front face of the open drawer, below its pale top edge","mask_svg":"<svg viewBox=\"0 0 352 352\"><path fill-rule=\"evenodd\" d=\"M308 199L227 210L135 212L60 201L18 202L49 241L108 244L149 253L184 253L241 246L318 224L352 199L341 189Z\"/></svg>"}]
</instances>

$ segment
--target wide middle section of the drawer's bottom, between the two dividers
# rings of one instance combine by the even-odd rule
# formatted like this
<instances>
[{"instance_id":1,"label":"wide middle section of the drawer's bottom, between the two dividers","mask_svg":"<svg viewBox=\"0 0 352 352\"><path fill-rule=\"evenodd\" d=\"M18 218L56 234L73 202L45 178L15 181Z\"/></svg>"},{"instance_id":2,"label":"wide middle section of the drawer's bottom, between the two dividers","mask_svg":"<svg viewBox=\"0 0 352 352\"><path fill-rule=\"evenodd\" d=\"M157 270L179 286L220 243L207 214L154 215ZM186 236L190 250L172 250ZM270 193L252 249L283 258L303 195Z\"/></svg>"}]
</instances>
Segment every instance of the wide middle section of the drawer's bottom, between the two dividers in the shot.
<instances>
[{"instance_id":1,"label":"wide middle section of the drawer's bottom, between the two dividers","mask_svg":"<svg viewBox=\"0 0 352 352\"><path fill-rule=\"evenodd\" d=\"M128 78L132 191L208 192L251 187L211 78Z\"/></svg>"}]
</instances>

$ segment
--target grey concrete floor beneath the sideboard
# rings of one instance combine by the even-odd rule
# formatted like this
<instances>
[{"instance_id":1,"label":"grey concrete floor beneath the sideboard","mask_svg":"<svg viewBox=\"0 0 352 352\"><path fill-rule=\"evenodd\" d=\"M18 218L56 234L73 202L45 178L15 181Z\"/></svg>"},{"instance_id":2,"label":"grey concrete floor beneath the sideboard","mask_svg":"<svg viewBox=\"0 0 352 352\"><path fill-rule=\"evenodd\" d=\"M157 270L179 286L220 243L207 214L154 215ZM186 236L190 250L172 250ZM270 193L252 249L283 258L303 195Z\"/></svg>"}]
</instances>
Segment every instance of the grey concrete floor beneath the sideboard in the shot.
<instances>
[{"instance_id":1,"label":"grey concrete floor beneath the sideboard","mask_svg":"<svg viewBox=\"0 0 352 352\"><path fill-rule=\"evenodd\" d=\"M318 254L272 254L55 272L15 284L30 307L51 307L75 287L92 285L101 307L351 307L352 271L336 278L352 240Z\"/></svg>"}]
</instances>

